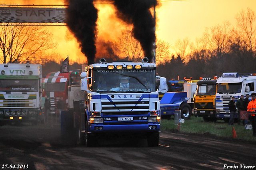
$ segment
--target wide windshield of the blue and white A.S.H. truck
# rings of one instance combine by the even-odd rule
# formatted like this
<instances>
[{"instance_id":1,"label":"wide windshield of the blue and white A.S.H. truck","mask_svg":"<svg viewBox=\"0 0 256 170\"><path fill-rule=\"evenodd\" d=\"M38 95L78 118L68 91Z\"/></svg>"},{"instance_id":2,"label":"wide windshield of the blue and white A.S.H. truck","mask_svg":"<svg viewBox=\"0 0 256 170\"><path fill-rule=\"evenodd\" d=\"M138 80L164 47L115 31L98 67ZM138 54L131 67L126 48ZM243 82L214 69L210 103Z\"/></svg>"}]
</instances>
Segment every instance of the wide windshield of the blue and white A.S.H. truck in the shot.
<instances>
[{"instance_id":1,"label":"wide windshield of the blue and white A.S.H. truck","mask_svg":"<svg viewBox=\"0 0 256 170\"><path fill-rule=\"evenodd\" d=\"M156 91L155 70L95 70L92 76L93 92Z\"/></svg>"}]
</instances>

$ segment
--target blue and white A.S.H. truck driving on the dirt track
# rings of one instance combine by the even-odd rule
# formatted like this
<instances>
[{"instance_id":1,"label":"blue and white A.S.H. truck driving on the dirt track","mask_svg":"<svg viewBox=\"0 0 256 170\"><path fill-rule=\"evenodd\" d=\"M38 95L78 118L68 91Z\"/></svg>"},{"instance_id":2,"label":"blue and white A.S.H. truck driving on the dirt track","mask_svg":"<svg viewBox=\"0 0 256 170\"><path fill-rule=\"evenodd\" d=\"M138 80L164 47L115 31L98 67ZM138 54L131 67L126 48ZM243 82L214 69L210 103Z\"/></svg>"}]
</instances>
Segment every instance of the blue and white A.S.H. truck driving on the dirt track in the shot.
<instances>
[{"instance_id":1,"label":"blue and white A.S.H. truck driving on the dirt track","mask_svg":"<svg viewBox=\"0 0 256 170\"><path fill-rule=\"evenodd\" d=\"M166 78L158 77L157 89L156 64L148 63L147 58L141 63L106 63L102 58L86 67L81 78L86 109L80 127L87 146L95 145L97 136L109 133L140 134L147 138L148 146L158 146L158 90L166 89Z\"/></svg>"}]
</instances>

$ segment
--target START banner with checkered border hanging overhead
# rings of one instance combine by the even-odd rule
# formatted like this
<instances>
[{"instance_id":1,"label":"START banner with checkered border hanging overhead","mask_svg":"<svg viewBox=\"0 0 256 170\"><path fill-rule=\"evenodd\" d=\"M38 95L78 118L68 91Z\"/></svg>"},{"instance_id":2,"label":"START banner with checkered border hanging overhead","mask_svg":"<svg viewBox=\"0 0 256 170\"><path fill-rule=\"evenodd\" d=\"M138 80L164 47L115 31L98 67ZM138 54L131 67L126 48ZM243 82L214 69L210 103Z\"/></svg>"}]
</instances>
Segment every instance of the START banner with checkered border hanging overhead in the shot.
<instances>
[{"instance_id":1,"label":"START banner with checkered border hanging overhead","mask_svg":"<svg viewBox=\"0 0 256 170\"><path fill-rule=\"evenodd\" d=\"M0 7L0 23L64 23L65 9Z\"/></svg>"}]
</instances>

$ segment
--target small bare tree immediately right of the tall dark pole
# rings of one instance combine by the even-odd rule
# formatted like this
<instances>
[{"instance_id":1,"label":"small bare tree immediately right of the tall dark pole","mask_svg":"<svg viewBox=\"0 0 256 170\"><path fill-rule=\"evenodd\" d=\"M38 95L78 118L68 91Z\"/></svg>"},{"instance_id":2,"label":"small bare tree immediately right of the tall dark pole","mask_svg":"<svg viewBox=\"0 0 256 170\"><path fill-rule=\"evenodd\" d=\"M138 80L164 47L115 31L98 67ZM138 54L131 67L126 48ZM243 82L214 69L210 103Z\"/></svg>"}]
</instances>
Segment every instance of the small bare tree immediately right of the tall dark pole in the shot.
<instances>
[{"instance_id":1,"label":"small bare tree immediately right of the tall dark pole","mask_svg":"<svg viewBox=\"0 0 256 170\"><path fill-rule=\"evenodd\" d=\"M156 39L156 64L164 64L170 58L170 44Z\"/></svg>"}]
</instances>

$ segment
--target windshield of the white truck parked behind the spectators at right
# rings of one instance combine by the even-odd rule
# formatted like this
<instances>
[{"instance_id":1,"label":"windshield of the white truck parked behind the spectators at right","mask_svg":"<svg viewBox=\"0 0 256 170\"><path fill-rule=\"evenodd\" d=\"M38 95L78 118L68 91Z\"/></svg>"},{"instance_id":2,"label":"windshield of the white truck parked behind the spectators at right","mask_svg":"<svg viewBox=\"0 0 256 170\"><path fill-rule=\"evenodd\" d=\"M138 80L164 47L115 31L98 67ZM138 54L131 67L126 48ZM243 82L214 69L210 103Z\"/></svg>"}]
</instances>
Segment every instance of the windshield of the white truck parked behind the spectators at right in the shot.
<instances>
[{"instance_id":1,"label":"windshield of the white truck parked behind the spectators at right","mask_svg":"<svg viewBox=\"0 0 256 170\"><path fill-rule=\"evenodd\" d=\"M217 93L219 94L234 94L240 93L242 89L242 82L240 83L219 83Z\"/></svg>"}]
</instances>

